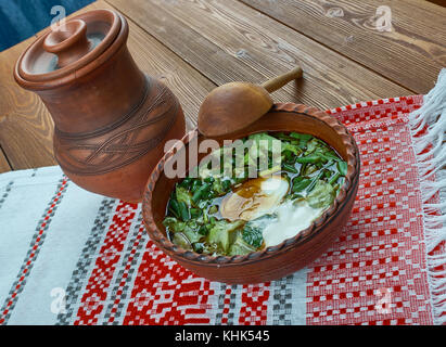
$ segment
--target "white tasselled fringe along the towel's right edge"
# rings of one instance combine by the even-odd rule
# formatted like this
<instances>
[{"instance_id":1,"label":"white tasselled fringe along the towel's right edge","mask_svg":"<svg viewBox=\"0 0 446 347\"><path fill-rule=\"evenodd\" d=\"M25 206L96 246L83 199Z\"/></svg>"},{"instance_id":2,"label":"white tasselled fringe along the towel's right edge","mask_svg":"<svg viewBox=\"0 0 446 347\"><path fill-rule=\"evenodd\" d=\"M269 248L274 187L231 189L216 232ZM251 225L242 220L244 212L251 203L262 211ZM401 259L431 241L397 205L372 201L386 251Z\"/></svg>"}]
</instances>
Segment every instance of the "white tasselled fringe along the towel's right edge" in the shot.
<instances>
[{"instance_id":1,"label":"white tasselled fringe along the towel's right edge","mask_svg":"<svg viewBox=\"0 0 446 347\"><path fill-rule=\"evenodd\" d=\"M446 68L423 105L410 114L409 126L420 177L433 320L442 325L446 323L446 178L439 170L446 163ZM438 249L441 254L432 255Z\"/></svg>"}]
</instances>

